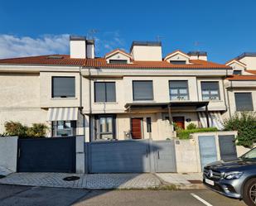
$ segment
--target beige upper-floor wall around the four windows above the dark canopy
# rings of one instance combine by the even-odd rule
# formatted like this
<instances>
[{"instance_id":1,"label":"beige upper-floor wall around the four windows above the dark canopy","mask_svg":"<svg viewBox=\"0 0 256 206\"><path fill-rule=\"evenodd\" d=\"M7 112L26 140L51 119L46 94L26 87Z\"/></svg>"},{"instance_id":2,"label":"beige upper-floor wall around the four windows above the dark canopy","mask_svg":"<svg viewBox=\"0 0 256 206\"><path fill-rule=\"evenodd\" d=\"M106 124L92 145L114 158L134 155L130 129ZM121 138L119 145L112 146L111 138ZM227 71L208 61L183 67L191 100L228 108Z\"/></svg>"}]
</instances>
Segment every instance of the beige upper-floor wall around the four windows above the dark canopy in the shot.
<instances>
[{"instance_id":1,"label":"beige upper-floor wall around the four windows above the dark canopy","mask_svg":"<svg viewBox=\"0 0 256 206\"><path fill-rule=\"evenodd\" d=\"M152 101L133 101L133 80L152 80L153 95ZM225 110L225 95L221 78L198 78L191 76L124 76L123 78L93 78L91 81L91 100L92 113L123 113L126 103L168 103L169 96L169 80L188 80L189 100L202 101L200 92L201 81L218 81L220 85L220 100L210 101L210 110ZM116 83L116 103L94 103L94 82L115 82ZM198 87L199 93L197 93ZM89 113L89 79L83 78L83 107L84 112ZM49 94L50 95L50 94Z\"/></svg>"}]
</instances>

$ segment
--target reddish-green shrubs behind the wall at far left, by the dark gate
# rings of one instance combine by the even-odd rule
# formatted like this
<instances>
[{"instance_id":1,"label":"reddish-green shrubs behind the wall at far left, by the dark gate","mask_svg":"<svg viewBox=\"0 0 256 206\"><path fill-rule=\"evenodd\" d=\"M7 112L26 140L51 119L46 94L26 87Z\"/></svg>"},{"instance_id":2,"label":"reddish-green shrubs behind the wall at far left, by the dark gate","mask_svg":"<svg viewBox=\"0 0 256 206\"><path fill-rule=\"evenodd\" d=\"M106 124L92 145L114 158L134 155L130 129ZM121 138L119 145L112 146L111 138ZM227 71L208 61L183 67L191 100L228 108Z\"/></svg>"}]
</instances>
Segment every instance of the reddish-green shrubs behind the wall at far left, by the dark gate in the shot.
<instances>
[{"instance_id":1,"label":"reddish-green shrubs behind the wall at far left, by the dark gate","mask_svg":"<svg viewBox=\"0 0 256 206\"><path fill-rule=\"evenodd\" d=\"M24 137L46 137L48 127L42 123L34 123L32 127L22 125L20 122L5 122L5 136Z\"/></svg>"}]
</instances>

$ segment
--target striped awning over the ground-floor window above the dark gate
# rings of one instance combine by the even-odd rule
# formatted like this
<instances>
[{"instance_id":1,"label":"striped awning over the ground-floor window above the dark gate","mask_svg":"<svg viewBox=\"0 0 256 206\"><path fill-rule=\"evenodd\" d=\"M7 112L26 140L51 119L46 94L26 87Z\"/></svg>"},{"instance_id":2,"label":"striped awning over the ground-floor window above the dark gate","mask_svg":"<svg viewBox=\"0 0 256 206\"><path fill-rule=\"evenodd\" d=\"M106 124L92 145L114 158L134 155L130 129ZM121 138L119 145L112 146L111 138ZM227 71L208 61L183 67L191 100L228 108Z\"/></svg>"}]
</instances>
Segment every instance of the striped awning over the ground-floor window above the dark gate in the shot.
<instances>
[{"instance_id":1,"label":"striped awning over the ground-floor window above the dark gate","mask_svg":"<svg viewBox=\"0 0 256 206\"><path fill-rule=\"evenodd\" d=\"M47 121L77 120L78 108L49 108Z\"/></svg>"}]
</instances>

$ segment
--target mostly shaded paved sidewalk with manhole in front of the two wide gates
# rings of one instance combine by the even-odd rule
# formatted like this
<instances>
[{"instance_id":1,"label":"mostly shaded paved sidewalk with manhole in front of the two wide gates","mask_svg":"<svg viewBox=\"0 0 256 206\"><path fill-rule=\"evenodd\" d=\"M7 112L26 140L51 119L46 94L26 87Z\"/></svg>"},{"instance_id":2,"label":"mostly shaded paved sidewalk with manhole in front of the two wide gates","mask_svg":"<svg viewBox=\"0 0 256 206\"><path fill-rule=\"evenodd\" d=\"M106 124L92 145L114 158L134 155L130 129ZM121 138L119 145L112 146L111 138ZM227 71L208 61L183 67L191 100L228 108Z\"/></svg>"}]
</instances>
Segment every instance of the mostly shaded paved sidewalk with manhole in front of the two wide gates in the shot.
<instances>
[{"instance_id":1,"label":"mostly shaded paved sidewalk with manhole in front of the two wide gates","mask_svg":"<svg viewBox=\"0 0 256 206\"><path fill-rule=\"evenodd\" d=\"M69 176L79 176L80 180L63 180ZM152 174L13 173L0 179L0 184L77 189L147 189L162 183Z\"/></svg>"}]
</instances>

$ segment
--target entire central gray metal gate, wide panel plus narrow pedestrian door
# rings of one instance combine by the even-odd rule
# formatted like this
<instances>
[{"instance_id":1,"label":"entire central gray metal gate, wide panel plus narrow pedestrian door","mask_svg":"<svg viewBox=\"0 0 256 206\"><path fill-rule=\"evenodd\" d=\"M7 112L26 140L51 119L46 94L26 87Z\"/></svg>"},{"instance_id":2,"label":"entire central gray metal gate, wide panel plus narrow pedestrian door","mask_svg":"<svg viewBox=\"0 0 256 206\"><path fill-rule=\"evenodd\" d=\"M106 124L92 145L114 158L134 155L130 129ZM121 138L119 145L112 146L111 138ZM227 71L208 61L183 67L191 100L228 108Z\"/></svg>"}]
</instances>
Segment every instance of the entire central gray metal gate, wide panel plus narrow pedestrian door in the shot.
<instances>
[{"instance_id":1,"label":"entire central gray metal gate, wide panel plus narrow pedestrian door","mask_svg":"<svg viewBox=\"0 0 256 206\"><path fill-rule=\"evenodd\" d=\"M174 141L85 143L89 173L176 172Z\"/></svg>"}]
</instances>

